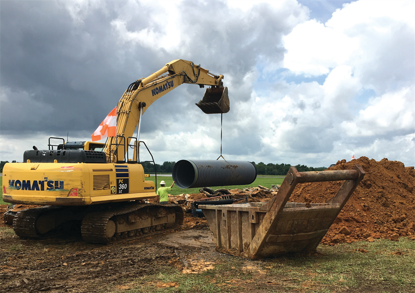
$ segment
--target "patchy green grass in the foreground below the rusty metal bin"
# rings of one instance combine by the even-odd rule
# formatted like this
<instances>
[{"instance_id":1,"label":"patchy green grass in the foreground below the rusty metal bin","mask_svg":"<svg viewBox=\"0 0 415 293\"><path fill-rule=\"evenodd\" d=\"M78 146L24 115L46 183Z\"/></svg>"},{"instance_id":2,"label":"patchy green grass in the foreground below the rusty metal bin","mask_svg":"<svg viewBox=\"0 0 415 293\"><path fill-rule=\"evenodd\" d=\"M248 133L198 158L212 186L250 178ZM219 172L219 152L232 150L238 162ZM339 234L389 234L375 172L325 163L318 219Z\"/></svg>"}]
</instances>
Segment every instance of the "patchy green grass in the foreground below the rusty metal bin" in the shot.
<instances>
[{"instance_id":1,"label":"patchy green grass in the foreground below the rusty metal bin","mask_svg":"<svg viewBox=\"0 0 415 293\"><path fill-rule=\"evenodd\" d=\"M401 237L398 242L383 239L373 243L360 241L336 246L320 245L317 252L262 261L223 257L213 270L198 274L183 274L173 268L165 268L129 280L130 289L122 292L240 293L261 289L261 292L330 293L350 289L364 292L367 288L371 288L371 292L414 292L415 241L409 238ZM266 273L253 275L255 272L244 271L243 267L247 264ZM178 288L156 286L166 283L176 283ZM109 292L114 292L114 289L109 289Z\"/></svg>"}]
</instances>

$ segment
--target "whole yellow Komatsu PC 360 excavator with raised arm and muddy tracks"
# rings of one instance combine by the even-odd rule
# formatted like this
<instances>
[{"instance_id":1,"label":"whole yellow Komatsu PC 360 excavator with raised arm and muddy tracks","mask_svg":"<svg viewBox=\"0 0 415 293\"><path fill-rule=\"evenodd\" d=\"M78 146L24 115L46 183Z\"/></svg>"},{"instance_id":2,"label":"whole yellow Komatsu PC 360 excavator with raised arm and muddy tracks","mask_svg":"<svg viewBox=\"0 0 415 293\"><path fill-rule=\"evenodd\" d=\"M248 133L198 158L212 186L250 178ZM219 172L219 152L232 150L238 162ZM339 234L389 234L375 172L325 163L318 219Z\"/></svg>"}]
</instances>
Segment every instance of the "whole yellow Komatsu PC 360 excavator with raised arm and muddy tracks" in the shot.
<instances>
[{"instance_id":1,"label":"whole yellow Komatsu PC 360 excavator with raised arm and muddy tracks","mask_svg":"<svg viewBox=\"0 0 415 293\"><path fill-rule=\"evenodd\" d=\"M181 207L140 201L156 197L154 182L146 180L139 159L140 143L145 146L139 141L141 116L180 84L209 85L196 105L207 114L226 113L229 98L222 79L200 65L174 60L130 84L117 105L117 136L105 144L61 139L62 144L52 145L50 138L49 149L34 147L24 152L23 163L5 164L3 201L43 206L14 216L16 234L38 238L51 230L81 226L85 241L107 243L180 227ZM99 147L103 151L96 150Z\"/></svg>"}]
</instances>

